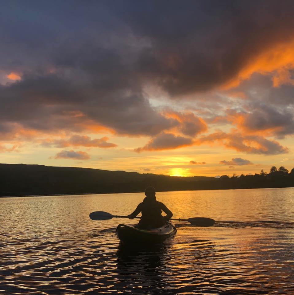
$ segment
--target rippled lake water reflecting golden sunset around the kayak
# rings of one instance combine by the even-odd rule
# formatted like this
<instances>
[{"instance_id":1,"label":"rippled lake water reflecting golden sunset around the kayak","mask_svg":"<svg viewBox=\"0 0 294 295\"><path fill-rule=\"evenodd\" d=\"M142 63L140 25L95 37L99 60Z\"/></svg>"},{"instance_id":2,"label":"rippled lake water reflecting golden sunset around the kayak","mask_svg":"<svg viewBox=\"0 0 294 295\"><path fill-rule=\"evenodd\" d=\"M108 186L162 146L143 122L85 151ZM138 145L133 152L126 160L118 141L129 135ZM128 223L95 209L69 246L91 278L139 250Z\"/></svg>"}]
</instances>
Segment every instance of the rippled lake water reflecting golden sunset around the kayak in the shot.
<instances>
[{"instance_id":1,"label":"rippled lake water reflecting golden sunset around the kayak","mask_svg":"<svg viewBox=\"0 0 294 295\"><path fill-rule=\"evenodd\" d=\"M0 198L0 294L294 294L294 188L158 192L175 222L157 246L126 247L118 223L143 193Z\"/></svg>"}]
</instances>

